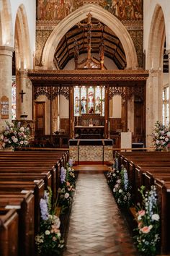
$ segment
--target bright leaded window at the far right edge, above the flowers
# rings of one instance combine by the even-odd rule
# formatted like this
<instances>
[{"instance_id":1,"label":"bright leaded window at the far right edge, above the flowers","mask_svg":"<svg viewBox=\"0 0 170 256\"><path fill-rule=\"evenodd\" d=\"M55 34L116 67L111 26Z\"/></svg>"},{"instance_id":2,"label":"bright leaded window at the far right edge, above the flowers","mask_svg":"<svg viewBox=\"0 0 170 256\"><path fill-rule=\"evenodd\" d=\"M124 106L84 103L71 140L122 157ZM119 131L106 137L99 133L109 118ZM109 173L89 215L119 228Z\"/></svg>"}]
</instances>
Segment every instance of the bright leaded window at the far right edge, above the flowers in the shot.
<instances>
[{"instance_id":1,"label":"bright leaded window at the far right edge, above the flowers","mask_svg":"<svg viewBox=\"0 0 170 256\"><path fill-rule=\"evenodd\" d=\"M162 91L162 123L169 124L169 86Z\"/></svg>"}]
</instances>

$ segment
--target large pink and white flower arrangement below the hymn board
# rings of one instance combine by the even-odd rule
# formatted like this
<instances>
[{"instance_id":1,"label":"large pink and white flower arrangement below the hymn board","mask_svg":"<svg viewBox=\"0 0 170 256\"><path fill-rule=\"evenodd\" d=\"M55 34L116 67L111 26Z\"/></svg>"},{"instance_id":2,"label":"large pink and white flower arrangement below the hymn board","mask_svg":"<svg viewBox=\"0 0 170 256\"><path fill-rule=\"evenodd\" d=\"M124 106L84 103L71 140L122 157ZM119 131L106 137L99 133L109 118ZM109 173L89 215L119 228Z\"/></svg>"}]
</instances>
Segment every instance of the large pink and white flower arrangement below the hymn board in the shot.
<instances>
[{"instance_id":1,"label":"large pink and white flower arrangement below the hymn board","mask_svg":"<svg viewBox=\"0 0 170 256\"><path fill-rule=\"evenodd\" d=\"M28 140L30 137L30 129L21 127L20 122L14 122L14 124L9 124L6 121L6 127L0 135L1 148L8 147L23 147L28 144Z\"/></svg>"}]
</instances>

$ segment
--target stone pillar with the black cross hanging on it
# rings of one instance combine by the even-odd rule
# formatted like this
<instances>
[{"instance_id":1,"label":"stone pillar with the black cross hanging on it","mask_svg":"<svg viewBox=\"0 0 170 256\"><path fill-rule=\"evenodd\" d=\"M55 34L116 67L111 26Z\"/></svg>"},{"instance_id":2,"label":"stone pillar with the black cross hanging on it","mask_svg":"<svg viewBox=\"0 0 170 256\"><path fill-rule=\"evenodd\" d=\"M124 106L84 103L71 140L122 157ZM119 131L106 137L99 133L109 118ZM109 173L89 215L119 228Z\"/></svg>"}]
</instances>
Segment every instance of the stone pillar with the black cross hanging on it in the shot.
<instances>
[{"instance_id":1,"label":"stone pillar with the black cross hanging on it","mask_svg":"<svg viewBox=\"0 0 170 256\"><path fill-rule=\"evenodd\" d=\"M21 115L28 115L27 110L32 108L32 102L27 102L27 70L20 69L19 85L17 86L17 119L20 119Z\"/></svg>"}]
</instances>

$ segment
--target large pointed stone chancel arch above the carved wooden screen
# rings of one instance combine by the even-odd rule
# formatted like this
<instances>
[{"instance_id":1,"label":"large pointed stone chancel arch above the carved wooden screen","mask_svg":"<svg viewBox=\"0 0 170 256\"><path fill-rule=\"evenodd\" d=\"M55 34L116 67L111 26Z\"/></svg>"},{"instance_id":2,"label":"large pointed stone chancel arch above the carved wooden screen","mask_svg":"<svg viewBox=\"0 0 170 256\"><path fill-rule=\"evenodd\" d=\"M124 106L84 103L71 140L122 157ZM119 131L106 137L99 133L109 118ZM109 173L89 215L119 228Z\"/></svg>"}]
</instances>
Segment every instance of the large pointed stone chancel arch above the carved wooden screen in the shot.
<instances>
[{"instance_id":1,"label":"large pointed stone chancel arch above the carved wooden screen","mask_svg":"<svg viewBox=\"0 0 170 256\"><path fill-rule=\"evenodd\" d=\"M115 16L107 12L102 7L99 7L95 4L86 4L83 7L76 9L75 12L69 14L55 27L53 32L50 34L50 37L45 43L45 47L42 53L42 66L44 66L43 68L53 68L53 56L61 38L63 38L63 35L65 35L68 30L71 29L71 27L76 25L77 22L81 22L81 20L86 19L86 14L89 12L91 12L94 18L100 22L103 22L112 31L114 31L114 33L120 39L122 47L125 51L127 69L138 67L138 59L133 40L130 37L128 30L126 30L124 25L122 25L122 22L120 22L120 20L118 20Z\"/></svg>"}]
</instances>

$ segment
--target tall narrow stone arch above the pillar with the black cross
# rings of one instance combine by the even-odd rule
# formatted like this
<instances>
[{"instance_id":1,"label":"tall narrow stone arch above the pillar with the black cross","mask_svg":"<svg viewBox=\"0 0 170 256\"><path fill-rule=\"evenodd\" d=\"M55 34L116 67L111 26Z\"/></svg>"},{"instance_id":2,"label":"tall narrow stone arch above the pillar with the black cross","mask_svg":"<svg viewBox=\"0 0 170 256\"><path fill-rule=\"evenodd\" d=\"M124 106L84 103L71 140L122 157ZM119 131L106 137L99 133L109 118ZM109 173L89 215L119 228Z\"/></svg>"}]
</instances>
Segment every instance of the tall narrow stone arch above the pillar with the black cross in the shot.
<instances>
[{"instance_id":1,"label":"tall narrow stone arch above the pillar with the black cross","mask_svg":"<svg viewBox=\"0 0 170 256\"><path fill-rule=\"evenodd\" d=\"M24 5L17 10L15 21L14 48L17 69L31 68L30 34Z\"/></svg>"}]
</instances>

